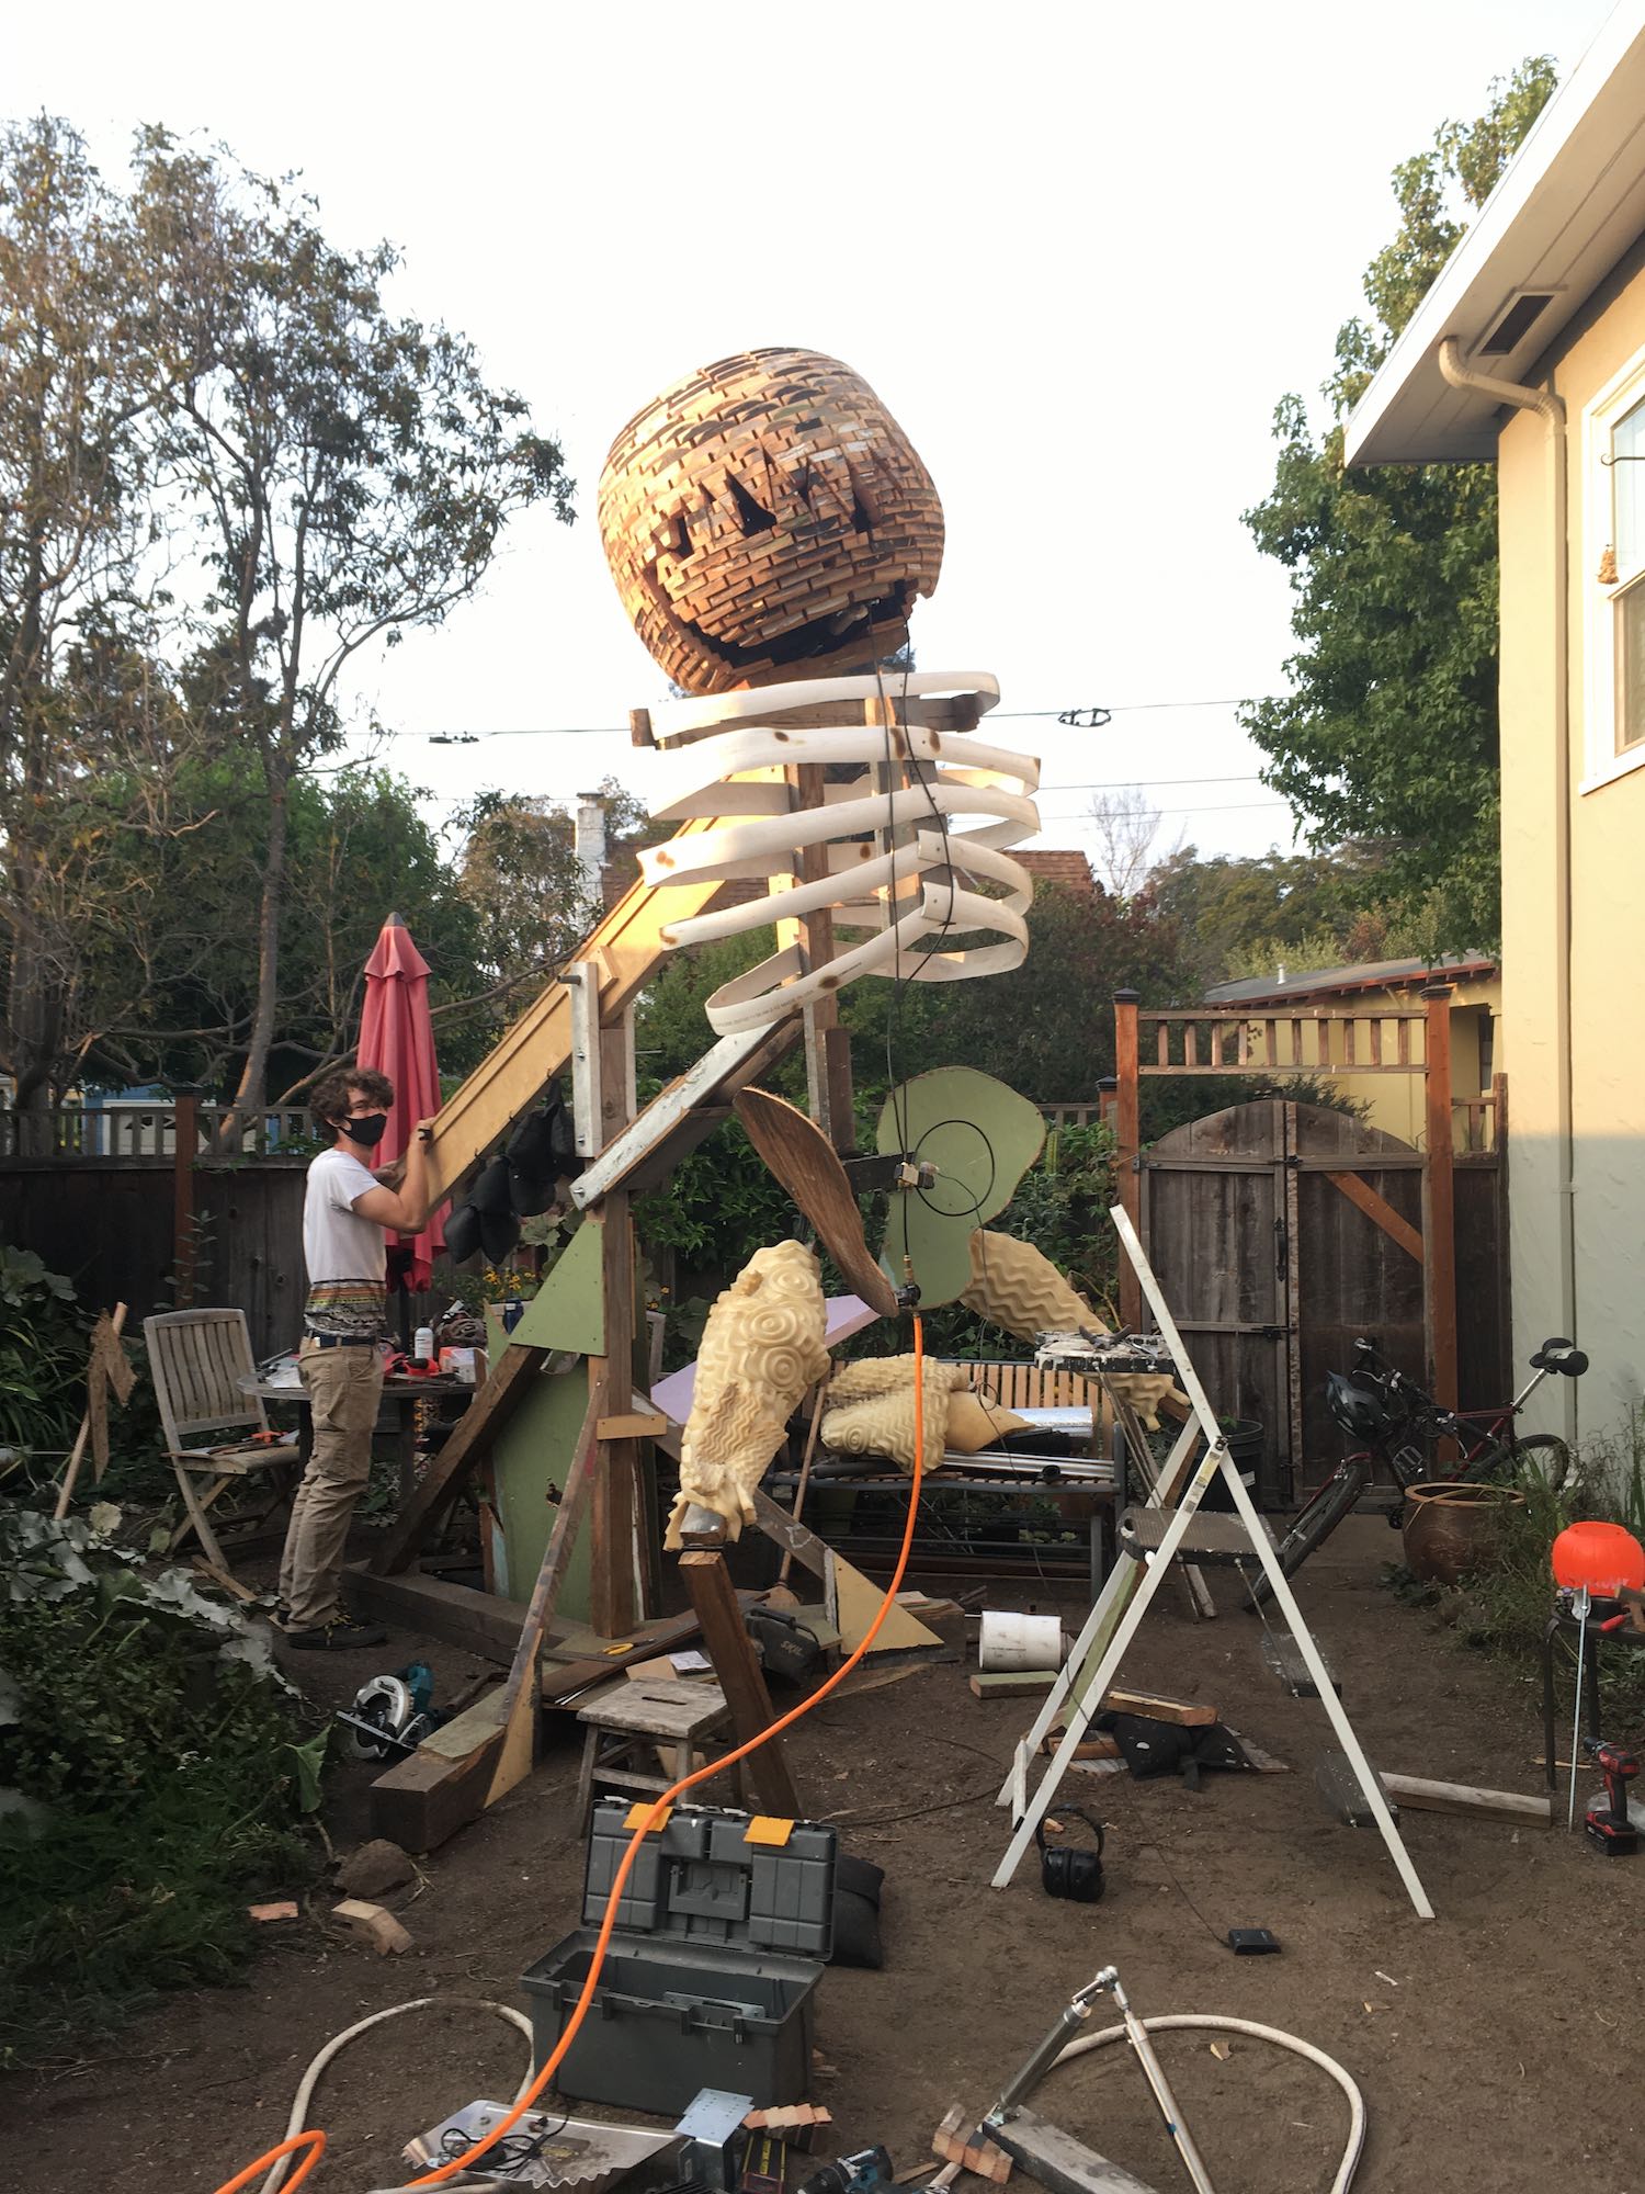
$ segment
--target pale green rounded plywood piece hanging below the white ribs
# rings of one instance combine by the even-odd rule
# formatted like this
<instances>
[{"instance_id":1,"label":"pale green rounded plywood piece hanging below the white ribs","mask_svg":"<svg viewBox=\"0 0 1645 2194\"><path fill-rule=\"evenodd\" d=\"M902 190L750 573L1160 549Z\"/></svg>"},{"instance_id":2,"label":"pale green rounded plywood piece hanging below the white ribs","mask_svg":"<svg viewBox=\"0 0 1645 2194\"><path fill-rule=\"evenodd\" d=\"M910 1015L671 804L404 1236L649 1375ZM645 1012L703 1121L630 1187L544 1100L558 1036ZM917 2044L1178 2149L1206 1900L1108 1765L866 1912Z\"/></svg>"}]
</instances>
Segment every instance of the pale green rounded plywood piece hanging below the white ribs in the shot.
<instances>
[{"instance_id":1,"label":"pale green rounded plywood piece hanging below the white ribs","mask_svg":"<svg viewBox=\"0 0 1645 2194\"><path fill-rule=\"evenodd\" d=\"M974 1066L937 1066L886 1097L875 1143L934 1165L930 1189L893 1189L880 1264L897 1288L912 1266L921 1308L954 1303L972 1277L976 1226L1016 1196L1046 1143L1037 1106Z\"/></svg>"}]
</instances>

